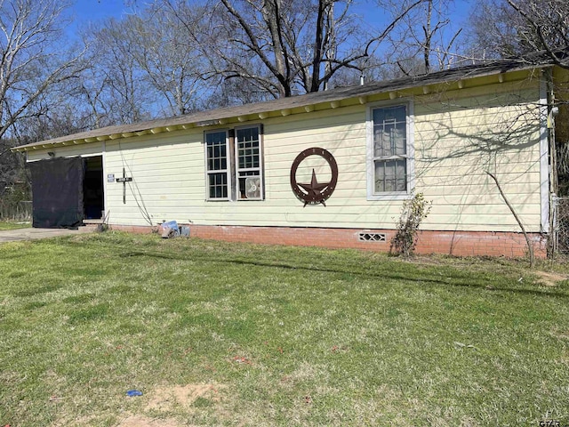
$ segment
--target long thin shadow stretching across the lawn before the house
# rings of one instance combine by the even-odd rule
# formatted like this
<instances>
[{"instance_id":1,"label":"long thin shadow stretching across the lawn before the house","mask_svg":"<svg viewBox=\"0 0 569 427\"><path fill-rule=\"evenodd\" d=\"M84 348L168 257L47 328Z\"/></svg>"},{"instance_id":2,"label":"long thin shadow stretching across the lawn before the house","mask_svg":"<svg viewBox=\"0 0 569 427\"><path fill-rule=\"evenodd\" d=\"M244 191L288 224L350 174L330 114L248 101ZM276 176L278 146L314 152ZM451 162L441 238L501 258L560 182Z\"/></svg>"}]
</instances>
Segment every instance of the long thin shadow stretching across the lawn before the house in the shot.
<instances>
[{"instance_id":1,"label":"long thin shadow stretching across the lawn before the house","mask_svg":"<svg viewBox=\"0 0 569 427\"><path fill-rule=\"evenodd\" d=\"M163 260L175 260L175 261L188 261L188 256L184 256L182 254L166 254L164 252L143 252L143 251L129 251L125 252L121 256L124 257L149 257L149 258L157 258ZM436 286L462 286L462 287L472 287L472 288L480 288L484 289L485 291L491 292L512 292L517 294L529 294L529 295L536 295L542 297L555 297L555 298L562 298L562 299L569 299L569 294L564 292L563 290L557 288L547 288L547 289L528 289L523 287L516 287L517 283L515 283L515 279L512 280L512 286L501 286L497 281L489 278L484 273L477 273L478 277L473 278L473 271L461 273L460 271L456 271L453 273L445 272L444 276L439 272L429 272L425 270L420 270L413 266L413 264L405 264L406 269L413 269L412 273L405 273L403 271L394 271L394 263L389 262L389 265L381 266L381 264L377 265L378 270L365 270L365 271L357 271L357 270L342 270L333 267L321 267L321 266L306 266L301 264L290 264L286 262L277 262L277 261L250 261L244 260L239 258L216 258L212 260L206 256L196 256L193 255L191 257L192 261L198 262L210 262L210 263L231 263L236 265L250 265L255 267L274 267L284 270L306 270L308 272L324 272L324 273L338 273L338 274L349 274L358 276L361 278L379 278L379 279L387 279L387 280L405 280L409 282L416 282L421 284L431 284ZM361 266L358 266L361 268ZM449 267L447 267L448 269ZM476 274L476 273L475 273ZM440 278L437 278L436 275L441 275ZM421 276L421 277L418 277ZM526 285L527 286L527 285Z\"/></svg>"}]
</instances>

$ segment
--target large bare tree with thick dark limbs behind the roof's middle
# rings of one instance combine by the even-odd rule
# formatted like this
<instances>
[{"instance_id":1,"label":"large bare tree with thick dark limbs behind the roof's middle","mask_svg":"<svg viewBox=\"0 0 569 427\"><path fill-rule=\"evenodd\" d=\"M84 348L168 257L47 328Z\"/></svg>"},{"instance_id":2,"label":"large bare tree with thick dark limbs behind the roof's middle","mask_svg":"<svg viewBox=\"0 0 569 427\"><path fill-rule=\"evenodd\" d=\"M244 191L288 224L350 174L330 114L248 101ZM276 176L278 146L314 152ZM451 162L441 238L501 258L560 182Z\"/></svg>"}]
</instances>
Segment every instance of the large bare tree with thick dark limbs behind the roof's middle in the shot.
<instances>
[{"instance_id":1,"label":"large bare tree with thick dark limbs behind the roof's middle","mask_svg":"<svg viewBox=\"0 0 569 427\"><path fill-rule=\"evenodd\" d=\"M209 4L210 30L194 38L215 76L247 82L275 98L317 92L343 70L359 75L362 60L421 1L410 2L369 36L349 13L351 0L221 0ZM188 27L187 3L164 3Z\"/></svg>"}]
</instances>

